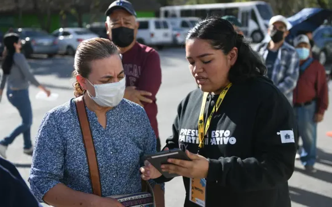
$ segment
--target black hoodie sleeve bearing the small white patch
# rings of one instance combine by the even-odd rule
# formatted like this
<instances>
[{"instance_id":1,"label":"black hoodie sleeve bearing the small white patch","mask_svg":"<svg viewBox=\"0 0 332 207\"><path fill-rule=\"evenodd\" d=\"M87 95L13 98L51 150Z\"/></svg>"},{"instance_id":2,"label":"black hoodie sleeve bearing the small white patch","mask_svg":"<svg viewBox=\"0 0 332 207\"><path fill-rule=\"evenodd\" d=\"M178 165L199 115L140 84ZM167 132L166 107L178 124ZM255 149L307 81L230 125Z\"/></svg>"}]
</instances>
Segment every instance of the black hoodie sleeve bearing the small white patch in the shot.
<instances>
[{"instance_id":1,"label":"black hoodie sleeve bearing the small white patch","mask_svg":"<svg viewBox=\"0 0 332 207\"><path fill-rule=\"evenodd\" d=\"M285 130L292 130L294 136L286 140L278 133ZM288 181L294 171L296 133L292 107L283 94L270 91L256 113L253 157L209 160L207 181L244 191L271 189Z\"/></svg>"}]
</instances>

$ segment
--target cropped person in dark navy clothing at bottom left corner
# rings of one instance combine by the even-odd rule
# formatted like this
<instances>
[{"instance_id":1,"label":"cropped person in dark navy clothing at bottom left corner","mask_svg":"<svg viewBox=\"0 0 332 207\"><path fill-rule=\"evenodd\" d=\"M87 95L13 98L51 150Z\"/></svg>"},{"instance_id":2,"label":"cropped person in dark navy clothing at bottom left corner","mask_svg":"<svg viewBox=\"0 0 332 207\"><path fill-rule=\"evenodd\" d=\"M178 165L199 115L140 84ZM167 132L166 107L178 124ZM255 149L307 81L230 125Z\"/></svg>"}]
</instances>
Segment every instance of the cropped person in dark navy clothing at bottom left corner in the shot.
<instances>
[{"instance_id":1,"label":"cropped person in dark navy clothing at bottom left corner","mask_svg":"<svg viewBox=\"0 0 332 207\"><path fill-rule=\"evenodd\" d=\"M0 157L1 206L42 207L30 191L15 165Z\"/></svg>"}]
</instances>

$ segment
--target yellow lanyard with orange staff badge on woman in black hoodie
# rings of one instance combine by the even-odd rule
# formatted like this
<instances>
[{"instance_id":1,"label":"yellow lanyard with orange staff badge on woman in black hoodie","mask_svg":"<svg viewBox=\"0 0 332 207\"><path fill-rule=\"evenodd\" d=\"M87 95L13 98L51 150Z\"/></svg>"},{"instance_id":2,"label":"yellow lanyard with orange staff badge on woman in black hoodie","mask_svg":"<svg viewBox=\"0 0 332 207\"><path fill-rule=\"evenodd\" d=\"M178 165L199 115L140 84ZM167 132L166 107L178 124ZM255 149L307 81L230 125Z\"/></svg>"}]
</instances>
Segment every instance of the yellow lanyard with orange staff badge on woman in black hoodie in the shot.
<instances>
[{"instance_id":1,"label":"yellow lanyard with orange staff badge on woman in black hoodie","mask_svg":"<svg viewBox=\"0 0 332 207\"><path fill-rule=\"evenodd\" d=\"M204 147L204 138L205 135L207 134L207 130L210 126L212 116L214 112L218 111L221 102L224 100L225 95L228 91L228 89L232 86L232 83L229 83L219 94L218 100L216 102L216 106L213 107L210 115L207 118L206 125L204 126L204 110L205 110L205 105L207 101L207 92L203 94L203 100L202 100L202 107L201 107L201 112L200 112L200 117L198 119L198 136L199 136L199 148ZM206 179L198 179L198 178L191 178L190 179L190 198L189 200L191 202L196 203L199 206L205 207L206 203L206 185L207 181Z\"/></svg>"}]
</instances>

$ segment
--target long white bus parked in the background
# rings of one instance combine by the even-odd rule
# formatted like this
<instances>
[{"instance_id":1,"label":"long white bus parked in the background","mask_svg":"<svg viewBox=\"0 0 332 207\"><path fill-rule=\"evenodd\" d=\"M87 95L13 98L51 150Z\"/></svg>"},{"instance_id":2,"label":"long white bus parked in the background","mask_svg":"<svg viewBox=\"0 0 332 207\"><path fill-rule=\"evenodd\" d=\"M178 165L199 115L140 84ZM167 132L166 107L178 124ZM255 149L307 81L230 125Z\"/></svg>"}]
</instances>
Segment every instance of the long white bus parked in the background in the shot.
<instances>
[{"instance_id":1,"label":"long white bus parked in the background","mask_svg":"<svg viewBox=\"0 0 332 207\"><path fill-rule=\"evenodd\" d=\"M161 18L232 15L242 23L241 30L253 42L260 42L267 33L269 20L273 16L271 5L264 1L165 6L160 8Z\"/></svg>"}]
</instances>

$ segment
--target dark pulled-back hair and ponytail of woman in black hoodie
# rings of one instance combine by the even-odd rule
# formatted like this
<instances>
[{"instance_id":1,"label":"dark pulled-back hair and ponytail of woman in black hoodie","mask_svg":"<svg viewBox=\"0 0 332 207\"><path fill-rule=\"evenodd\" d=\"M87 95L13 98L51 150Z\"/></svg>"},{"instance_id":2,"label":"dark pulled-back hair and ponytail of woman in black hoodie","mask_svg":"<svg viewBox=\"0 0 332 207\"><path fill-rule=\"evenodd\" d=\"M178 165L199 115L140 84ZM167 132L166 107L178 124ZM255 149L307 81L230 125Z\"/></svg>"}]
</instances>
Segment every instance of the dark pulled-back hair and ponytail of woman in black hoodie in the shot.
<instances>
[{"instance_id":1,"label":"dark pulled-back hair and ponytail of woman in black hoodie","mask_svg":"<svg viewBox=\"0 0 332 207\"><path fill-rule=\"evenodd\" d=\"M222 50L224 54L237 48L237 60L228 73L228 79L233 83L266 73L266 67L259 56L227 20L209 17L197 23L188 32L186 40L195 38L209 41L214 49Z\"/></svg>"}]
</instances>

